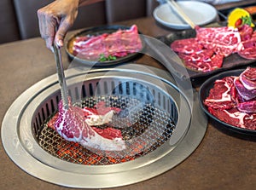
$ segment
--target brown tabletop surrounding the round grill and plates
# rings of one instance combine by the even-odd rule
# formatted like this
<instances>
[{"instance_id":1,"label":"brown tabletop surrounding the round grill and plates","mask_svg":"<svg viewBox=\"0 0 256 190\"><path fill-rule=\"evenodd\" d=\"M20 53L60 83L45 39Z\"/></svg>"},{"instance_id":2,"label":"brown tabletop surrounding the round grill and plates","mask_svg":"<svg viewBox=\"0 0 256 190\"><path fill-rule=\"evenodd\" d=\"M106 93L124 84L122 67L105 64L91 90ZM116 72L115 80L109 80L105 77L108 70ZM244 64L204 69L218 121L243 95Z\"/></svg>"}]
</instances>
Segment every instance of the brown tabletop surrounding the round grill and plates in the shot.
<instances>
[{"instance_id":1,"label":"brown tabletop surrounding the round grill and plates","mask_svg":"<svg viewBox=\"0 0 256 190\"><path fill-rule=\"evenodd\" d=\"M127 20L119 24L127 26L137 24L143 34L152 37L170 32L158 26L152 17ZM55 60L54 55L45 48L44 41L39 37L2 44L0 55L0 123L2 124L5 112L24 90L55 73ZM68 60L64 52L63 58L67 68ZM136 62L163 68L149 58L141 57ZM183 163L148 181L114 189L255 189L255 145L255 137L224 130L210 120L200 146ZM2 141L0 155L0 189L68 189L38 180L20 170L4 153Z\"/></svg>"}]
</instances>

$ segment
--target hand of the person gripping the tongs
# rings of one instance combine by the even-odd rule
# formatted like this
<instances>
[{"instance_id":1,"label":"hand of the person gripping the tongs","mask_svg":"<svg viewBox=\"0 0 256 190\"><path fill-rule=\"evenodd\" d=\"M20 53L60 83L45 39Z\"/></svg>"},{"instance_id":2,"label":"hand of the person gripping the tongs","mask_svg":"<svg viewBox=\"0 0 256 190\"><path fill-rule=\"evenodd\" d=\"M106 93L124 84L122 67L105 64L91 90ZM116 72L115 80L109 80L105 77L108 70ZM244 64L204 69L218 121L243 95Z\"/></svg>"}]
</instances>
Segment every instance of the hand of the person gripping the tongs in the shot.
<instances>
[{"instance_id":1,"label":"hand of the person gripping the tongs","mask_svg":"<svg viewBox=\"0 0 256 190\"><path fill-rule=\"evenodd\" d=\"M54 42L60 47L63 46L67 30L73 26L78 15L78 7L79 0L55 0L38 9L39 30L48 49L53 51Z\"/></svg>"}]
</instances>

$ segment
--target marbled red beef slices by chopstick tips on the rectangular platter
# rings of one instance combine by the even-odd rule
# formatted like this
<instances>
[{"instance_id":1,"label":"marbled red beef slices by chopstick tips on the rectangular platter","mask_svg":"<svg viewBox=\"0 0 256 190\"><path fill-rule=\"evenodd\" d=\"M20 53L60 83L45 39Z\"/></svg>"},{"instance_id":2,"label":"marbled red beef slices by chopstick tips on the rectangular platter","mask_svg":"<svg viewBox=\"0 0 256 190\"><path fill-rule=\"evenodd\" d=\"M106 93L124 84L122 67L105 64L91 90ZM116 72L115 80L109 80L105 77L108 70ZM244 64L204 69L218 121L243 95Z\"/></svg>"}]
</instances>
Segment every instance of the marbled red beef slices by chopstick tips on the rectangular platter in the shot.
<instances>
[{"instance_id":1,"label":"marbled red beef slices by chopstick tips on the rectangular platter","mask_svg":"<svg viewBox=\"0 0 256 190\"><path fill-rule=\"evenodd\" d=\"M185 66L200 72L220 68L224 57L236 53L241 42L240 33L230 27L197 26L196 37L176 40L171 49L183 59ZM241 30L246 33L245 29Z\"/></svg>"}]
</instances>

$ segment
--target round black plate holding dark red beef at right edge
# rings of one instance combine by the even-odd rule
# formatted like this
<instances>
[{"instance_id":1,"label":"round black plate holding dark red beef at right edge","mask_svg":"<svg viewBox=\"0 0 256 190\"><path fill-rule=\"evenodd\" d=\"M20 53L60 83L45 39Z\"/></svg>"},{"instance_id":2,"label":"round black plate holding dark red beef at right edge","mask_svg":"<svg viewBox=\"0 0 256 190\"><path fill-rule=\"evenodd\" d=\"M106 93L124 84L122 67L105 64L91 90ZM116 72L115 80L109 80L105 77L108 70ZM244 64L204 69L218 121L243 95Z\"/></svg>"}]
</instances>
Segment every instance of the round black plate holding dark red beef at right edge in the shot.
<instances>
[{"instance_id":1,"label":"round black plate holding dark red beef at right edge","mask_svg":"<svg viewBox=\"0 0 256 190\"><path fill-rule=\"evenodd\" d=\"M221 126L256 135L256 67L219 73L200 88L204 112Z\"/></svg>"}]
</instances>

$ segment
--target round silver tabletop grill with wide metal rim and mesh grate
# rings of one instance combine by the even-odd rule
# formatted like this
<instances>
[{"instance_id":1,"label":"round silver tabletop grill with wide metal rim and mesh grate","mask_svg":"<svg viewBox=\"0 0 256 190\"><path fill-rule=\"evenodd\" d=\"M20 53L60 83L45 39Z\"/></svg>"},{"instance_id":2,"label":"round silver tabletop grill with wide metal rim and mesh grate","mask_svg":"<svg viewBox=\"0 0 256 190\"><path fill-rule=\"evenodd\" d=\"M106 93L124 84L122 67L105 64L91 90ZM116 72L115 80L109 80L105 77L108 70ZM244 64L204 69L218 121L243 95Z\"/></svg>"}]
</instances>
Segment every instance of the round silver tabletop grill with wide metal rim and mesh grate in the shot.
<instances>
[{"instance_id":1,"label":"round silver tabletop grill with wide metal rim and mesh grate","mask_svg":"<svg viewBox=\"0 0 256 190\"><path fill-rule=\"evenodd\" d=\"M129 124L127 118L112 121L113 128L122 132L124 150L93 152L65 141L48 126L61 100L53 75L27 89L6 113L2 138L9 157L32 176L81 188L144 181L189 157L207 129L195 92L190 101L186 89L179 90L169 73L148 66L136 66L134 71L134 66L127 66L90 72L73 68L66 75L75 106L94 107L104 101L106 107L134 107L129 110Z\"/></svg>"}]
</instances>

